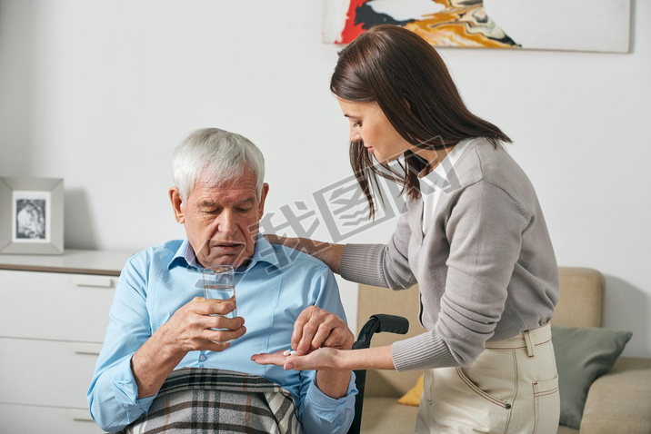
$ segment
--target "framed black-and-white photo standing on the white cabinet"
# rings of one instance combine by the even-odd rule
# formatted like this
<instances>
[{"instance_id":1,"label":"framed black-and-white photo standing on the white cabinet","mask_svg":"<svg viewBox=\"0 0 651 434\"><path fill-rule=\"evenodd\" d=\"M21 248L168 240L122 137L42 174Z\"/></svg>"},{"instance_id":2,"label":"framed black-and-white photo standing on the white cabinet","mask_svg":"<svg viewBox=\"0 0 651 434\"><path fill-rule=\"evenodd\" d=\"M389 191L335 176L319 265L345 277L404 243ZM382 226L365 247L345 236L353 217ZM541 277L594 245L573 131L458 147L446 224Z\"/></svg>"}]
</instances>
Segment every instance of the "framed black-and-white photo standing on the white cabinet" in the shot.
<instances>
[{"instance_id":1,"label":"framed black-and-white photo standing on the white cabinet","mask_svg":"<svg viewBox=\"0 0 651 434\"><path fill-rule=\"evenodd\" d=\"M64 180L0 177L0 253L64 252Z\"/></svg>"}]
</instances>

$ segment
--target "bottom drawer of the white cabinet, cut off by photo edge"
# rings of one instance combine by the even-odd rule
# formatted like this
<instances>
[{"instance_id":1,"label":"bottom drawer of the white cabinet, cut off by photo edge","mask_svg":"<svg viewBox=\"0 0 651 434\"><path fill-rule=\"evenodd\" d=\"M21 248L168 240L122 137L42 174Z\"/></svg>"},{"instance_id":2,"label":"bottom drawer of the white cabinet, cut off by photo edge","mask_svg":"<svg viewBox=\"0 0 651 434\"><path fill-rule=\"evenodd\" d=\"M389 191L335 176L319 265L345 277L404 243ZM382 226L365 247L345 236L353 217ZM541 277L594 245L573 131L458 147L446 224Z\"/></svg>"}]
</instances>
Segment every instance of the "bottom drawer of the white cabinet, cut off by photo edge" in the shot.
<instances>
[{"instance_id":1,"label":"bottom drawer of the white cabinet, cut off by photo edge","mask_svg":"<svg viewBox=\"0 0 651 434\"><path fill-rule=\"evenodd\" d=\"M62 409L15 404L0 404L1 432L65 432L100 434L87 409Z\"/></svg>"}]
</instances>

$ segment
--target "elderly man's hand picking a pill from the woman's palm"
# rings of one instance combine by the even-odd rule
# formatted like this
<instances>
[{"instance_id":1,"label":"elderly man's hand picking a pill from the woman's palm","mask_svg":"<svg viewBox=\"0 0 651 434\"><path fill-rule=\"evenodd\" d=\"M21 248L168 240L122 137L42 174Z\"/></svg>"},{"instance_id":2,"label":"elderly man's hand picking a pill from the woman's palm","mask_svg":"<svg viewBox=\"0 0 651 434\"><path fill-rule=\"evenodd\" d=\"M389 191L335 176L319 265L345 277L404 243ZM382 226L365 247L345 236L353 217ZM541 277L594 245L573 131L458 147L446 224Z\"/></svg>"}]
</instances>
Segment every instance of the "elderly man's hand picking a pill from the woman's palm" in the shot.
<instances>
[{"instance_id":1,"label":"elderly man's hand picking a pill from the woman's palm","mask_svg":"<svg viewBox=\"0 0 651 434\"><path fill-rule=\"evenodd\" d=\"M321 347L350 350L354 342L355 336L344 320L316 306L302 311L294 323L292 348L299 355Z\"/></svg>"}]
</instances>

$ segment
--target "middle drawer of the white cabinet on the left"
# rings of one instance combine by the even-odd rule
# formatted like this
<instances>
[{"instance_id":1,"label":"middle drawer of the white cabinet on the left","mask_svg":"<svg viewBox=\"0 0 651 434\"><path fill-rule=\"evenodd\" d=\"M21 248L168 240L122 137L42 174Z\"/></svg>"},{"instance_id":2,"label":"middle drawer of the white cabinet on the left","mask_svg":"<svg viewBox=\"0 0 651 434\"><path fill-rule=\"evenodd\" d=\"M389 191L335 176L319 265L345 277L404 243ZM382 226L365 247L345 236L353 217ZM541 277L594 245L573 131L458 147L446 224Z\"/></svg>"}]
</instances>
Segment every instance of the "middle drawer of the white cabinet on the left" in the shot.
<instances>
[{"instance_id":1,"label":"middle drawer of the white cabinet on the left","mask_svg":"<svg viewBox=\"0 0 651 434\"><path fill-rule=\"evenodd\" d=\"M0 338L0 348L0 402L87 407L100 344Z\"/></svg>"}]
</instances>

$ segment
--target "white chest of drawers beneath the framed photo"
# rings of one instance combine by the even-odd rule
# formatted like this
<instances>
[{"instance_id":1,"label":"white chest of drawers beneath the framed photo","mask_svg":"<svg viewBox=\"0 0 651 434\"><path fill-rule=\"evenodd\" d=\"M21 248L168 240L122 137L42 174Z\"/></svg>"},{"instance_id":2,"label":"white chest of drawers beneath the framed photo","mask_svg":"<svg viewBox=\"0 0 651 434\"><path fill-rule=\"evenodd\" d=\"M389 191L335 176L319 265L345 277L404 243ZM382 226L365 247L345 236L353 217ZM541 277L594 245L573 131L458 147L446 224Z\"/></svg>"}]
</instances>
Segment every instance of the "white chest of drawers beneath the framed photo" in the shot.
<instances>
[{"instance_id":1,"label":"white chest of drawers beneath the framed photo","mask_svg":"<svg viewBox=\"0 0 651 434\"><path fill-rule=\"evenodd\" d=\"M102 432L85 397L129 256L0 255L0 431Z\"/></svg>"}]
</instances>

